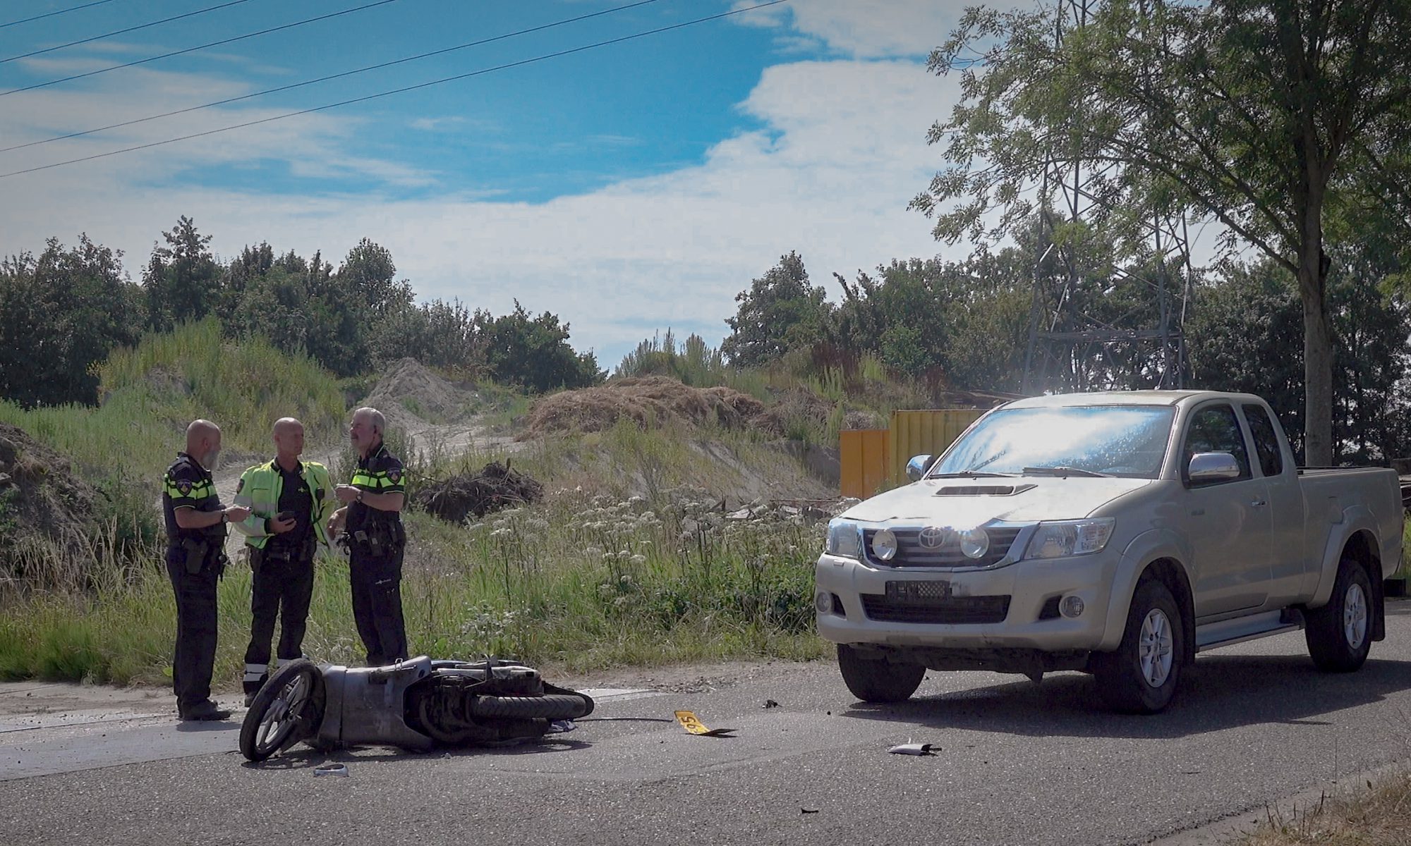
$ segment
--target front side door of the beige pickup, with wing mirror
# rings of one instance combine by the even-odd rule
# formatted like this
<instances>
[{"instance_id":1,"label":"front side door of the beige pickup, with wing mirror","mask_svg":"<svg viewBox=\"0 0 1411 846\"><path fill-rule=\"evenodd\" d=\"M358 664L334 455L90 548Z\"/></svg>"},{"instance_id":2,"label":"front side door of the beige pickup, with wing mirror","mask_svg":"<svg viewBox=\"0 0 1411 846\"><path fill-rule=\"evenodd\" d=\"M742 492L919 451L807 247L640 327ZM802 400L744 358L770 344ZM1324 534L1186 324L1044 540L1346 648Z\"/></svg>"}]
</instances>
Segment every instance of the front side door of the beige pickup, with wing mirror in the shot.
<instances>
[{"instance_id":1,"label":"front side door of the beige pickup, with wing mirror","mask_svg":"<svg viewBox=\"0 0 1411 846\"><path fill-rule=\"evenodd\" d=\"M1235 479L1192 482L1191 455L1229 453ZM1250 468L1249 447L1235 407L1204 405L1191 415L1181 451L1187 537L1194 556L1195 616L1208 618L1264 605L1271 578L1268 491Z\"/></svg>"}]
</instances>

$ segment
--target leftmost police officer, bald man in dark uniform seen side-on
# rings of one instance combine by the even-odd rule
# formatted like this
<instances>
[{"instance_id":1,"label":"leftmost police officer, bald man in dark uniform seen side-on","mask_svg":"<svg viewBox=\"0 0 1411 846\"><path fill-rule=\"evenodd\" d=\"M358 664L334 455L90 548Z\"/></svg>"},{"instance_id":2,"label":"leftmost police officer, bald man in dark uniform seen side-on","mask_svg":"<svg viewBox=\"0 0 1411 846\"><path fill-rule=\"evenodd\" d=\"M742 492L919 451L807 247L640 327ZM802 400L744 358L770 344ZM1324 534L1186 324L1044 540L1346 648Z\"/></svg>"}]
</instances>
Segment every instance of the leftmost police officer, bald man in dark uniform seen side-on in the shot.
<instances>
[{"instance_id":1,"label":"leftmost police officer, bald man in dark uniform seen side-on","mask_svg":"<svg viewBox=\"0 0 1411 846\"><path fill-rule=\"evenodd\" d=\"M220 505L210 468L220 457L220 427L193 420L186 427L186 451L162 479L166 520L166 572L176 592L176 650L172 689L181 719L226 719L230 712L210 701L210 673L216 663L216 580L226 570L226 523L244 520L250 510Z\"/></svg>"}]
</instances>

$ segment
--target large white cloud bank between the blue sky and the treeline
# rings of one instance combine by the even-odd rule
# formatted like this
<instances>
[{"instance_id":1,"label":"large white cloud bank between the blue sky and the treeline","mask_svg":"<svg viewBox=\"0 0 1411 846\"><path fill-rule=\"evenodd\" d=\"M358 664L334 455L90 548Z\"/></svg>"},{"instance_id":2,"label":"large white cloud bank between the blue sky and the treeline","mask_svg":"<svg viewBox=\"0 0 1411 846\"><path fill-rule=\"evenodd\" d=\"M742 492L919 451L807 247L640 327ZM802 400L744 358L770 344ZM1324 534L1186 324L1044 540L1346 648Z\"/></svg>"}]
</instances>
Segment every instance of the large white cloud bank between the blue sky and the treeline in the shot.
<instances>
[{"instance_id":1,"label":"large white cloud bank between the blue sky and the treeline","mask_svg":"<svg viewBox=\"0 0 1411 846\"><path fill-rule=\"evenodd\" d=\"M0 147L54 127L241 90L210 78L150 73L126 92L16 96L7 106L23 120L0 125ZM72 243L86 231L123 248L135 275L181 214L213 234L213 248L227 257L268 240L279 251L322 250L337 261L370 237L392 251L420 298L456 296L495 313L514 299L533 312L552 310L571 323L574 345L595 348L600 364L612 367L655 329L701 331L718 343L735 312L734 295L790 250L832 298L834 271L851 278L892 258L937 254L930 221L906 204L940 165L926 130L948 114L954 96L952 80L926 73L920 62L776 65L739 106L761 130L720 141L698 165L546 203L492 202L454 189L423 199L398 199L391 189L384 196L271 196L258 171L240 189L172 179L183 168L271 159L302 173L357 171L388 183L435 178L360 155L354 118L302 116L0 180L7 196L25 197L0 213L0 252L37 250L49 235ZM183 128L267 114L206 110L188 116ZM121 144L164 137L171 127L161 123L116 137ZM114 145L113 137L82 141L63 152ZM58 151L23 152L41 162ZM11 157L4 164L14 165Z\"/></svg>"}]
</instances>

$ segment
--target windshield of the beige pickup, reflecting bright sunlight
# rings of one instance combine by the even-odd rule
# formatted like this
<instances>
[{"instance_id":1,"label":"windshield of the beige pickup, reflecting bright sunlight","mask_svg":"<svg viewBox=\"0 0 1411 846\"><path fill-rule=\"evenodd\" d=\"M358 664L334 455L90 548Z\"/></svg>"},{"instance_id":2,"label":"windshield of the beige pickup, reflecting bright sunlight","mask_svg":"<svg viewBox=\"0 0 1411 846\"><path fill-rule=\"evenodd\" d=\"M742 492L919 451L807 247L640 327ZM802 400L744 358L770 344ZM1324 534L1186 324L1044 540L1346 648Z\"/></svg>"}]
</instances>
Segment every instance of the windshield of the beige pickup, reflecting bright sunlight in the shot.
<instances>
[{"instance_id":1,"label":"windshield of the beige pickup, reflecting bright sunlight","mask_svg":"<svg viewBox=\"0 0 1411 846\"><path fill-rule=\"evenodd\" d=\"M1154 479L1174 417L1171 406L1005 409L965 433L930 475L1067 468L1079 471L1072 475Z\"/></svg>"}]
</instances>

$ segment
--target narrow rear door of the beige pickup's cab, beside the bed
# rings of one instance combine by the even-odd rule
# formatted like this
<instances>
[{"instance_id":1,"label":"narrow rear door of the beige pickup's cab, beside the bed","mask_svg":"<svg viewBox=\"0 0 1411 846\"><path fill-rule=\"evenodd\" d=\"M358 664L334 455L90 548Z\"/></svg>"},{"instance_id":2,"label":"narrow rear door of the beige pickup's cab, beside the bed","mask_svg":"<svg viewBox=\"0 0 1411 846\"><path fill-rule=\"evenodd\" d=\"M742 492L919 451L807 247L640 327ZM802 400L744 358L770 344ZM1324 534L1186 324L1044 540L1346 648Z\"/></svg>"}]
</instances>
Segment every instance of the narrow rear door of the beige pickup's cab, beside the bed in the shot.
<instances>
[{"instance_id":1,"label":"narrow rear door of the beige pickup's cab, beside the bed","mask_svg":"<svg viewBox=\"0 0 1411 846\"><path fill-rule=\"evenodd\" d=\"M1304 492L1298 485L1298 470L1284 461L1281 430L1261 405L1245 403L1245 422L1254 440L1254 468L1264 477L1268 491L1268 512L1273 534L1268 544L1273 580L1268 585L1271 606L1288 605L1304 589L1308 556L1304 548Z\"/></svg>"}]
</instances>

